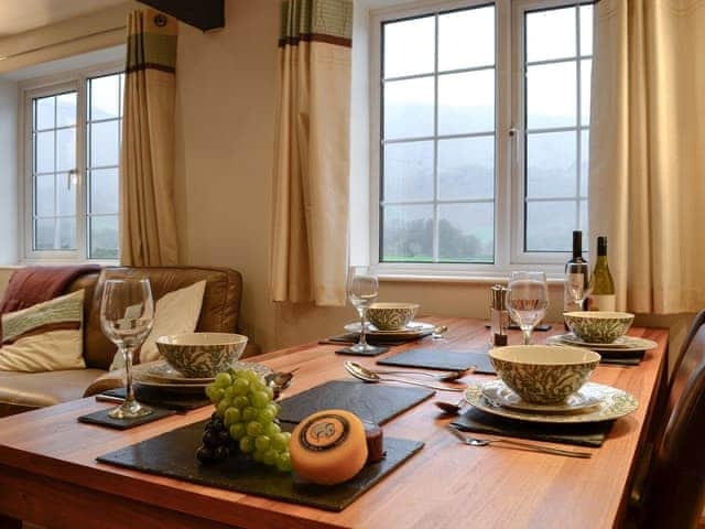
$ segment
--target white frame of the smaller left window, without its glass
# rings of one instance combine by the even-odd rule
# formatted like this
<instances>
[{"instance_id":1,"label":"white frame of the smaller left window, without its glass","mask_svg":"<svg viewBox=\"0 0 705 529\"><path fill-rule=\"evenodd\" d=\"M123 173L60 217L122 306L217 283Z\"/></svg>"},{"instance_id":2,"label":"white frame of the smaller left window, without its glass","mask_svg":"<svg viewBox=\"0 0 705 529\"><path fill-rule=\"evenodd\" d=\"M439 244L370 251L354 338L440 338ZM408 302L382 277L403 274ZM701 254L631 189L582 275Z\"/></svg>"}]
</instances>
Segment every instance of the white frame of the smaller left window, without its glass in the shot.
<instances>
[{"instance_id":1,"label":"white frame of the smaller left window, without its glass","mask_svg":"<svg viewBox=\"0 0 705 529\"><path fill-rule=\"evenodd\" d=\"M88 68L72 69L46 77L29 79L19 85L19 131L18 137L18 186L20 256L22 263L41 262L96 262L116 264L118 259L90 259L88 257L87 230L87 181L86 181L86 95L88 79L112 75L124 71L120 62L111 62ZM35 250L33 245L33 190L32 190L32 99L51 96L62 91L76 91L76 249L75 250ZM118 249L119 250L119 249Z\"/></svg>"}]
</instances>

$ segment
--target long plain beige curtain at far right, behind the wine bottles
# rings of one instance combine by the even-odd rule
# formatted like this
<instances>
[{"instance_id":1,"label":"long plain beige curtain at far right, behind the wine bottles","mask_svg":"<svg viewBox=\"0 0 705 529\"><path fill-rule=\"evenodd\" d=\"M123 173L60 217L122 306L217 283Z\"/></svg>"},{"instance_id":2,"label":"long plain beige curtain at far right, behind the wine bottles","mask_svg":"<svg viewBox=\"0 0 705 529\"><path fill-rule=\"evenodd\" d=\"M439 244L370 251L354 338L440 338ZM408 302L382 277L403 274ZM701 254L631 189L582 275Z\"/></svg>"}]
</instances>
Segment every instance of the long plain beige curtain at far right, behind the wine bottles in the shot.
<instances>
[{"instance_id":1,"label":"long plain beige curtain at far right, behind the wine bottles","mask_svg":"<svg viewBox=\"0 0 705 529\"><path fill-rule=\"evenodd\" d=\"M617 306L705 306L705 2L595 4L590 233Z\"/></svg>"}]
</instances>

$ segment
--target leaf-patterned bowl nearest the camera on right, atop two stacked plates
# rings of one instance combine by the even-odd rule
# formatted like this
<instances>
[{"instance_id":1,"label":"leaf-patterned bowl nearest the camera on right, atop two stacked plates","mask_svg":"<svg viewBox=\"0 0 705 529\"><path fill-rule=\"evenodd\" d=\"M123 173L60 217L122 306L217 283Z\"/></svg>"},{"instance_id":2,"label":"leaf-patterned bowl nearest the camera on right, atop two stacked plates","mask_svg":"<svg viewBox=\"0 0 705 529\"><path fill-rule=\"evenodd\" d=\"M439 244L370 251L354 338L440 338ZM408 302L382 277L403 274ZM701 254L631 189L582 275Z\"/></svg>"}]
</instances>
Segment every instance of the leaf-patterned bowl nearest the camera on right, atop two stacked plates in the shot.
<instances>
[{"instance_id":1,"label":"leaf-patterned bowl nearest the camera on right, atop two stacked plates","mask_svg":"<svg viewBox=\"0 0 705 529\"><path fill-rule=\"evenodd\" d=\"M581 389L600 359L594 350L549 345L498 347L489 357L499 378L536 404L563 402Z\"/></svg>"}]
</instances>

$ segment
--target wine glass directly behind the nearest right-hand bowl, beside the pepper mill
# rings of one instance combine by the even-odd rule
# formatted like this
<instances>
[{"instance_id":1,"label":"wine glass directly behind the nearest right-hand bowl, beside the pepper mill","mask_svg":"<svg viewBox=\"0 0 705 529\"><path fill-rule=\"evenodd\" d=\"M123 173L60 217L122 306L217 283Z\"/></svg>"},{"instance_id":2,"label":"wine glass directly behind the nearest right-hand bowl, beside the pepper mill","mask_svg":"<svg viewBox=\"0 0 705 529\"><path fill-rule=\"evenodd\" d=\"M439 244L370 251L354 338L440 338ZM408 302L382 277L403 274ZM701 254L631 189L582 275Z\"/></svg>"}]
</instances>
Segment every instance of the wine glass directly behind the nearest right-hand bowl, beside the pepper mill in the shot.
<instances>
[{"instance_id":1,"label":"wine glass directly behind the nearest right-hand bowl, beside the pepper mill","mask_svg":"<svg viewBox=\"0 0 705 529\"><path fill-rule=\"evenodd\" d=\"M549 285L543 272L511 272L507 292L509 315L517 322L524 338L531 344L533 327L543 320L549 306Z\"/></svg>"}]
</instances>

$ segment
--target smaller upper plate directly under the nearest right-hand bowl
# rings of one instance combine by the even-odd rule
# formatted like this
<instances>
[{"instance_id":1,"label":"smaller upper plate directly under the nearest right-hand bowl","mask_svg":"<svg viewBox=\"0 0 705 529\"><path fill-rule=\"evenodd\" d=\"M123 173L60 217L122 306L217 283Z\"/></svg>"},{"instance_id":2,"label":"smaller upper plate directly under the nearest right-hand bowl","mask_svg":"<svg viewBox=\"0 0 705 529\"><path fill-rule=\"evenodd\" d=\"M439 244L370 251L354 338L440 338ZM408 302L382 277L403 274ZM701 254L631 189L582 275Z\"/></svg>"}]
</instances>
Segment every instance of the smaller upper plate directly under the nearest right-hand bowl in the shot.
<instances>
[{"instance_id":1,"label":"smaller upper plate directly under the nearest right-hand bowl","mask_svg":"<svg viewBox=\"0 0 705 529\"><path fill-rule=\"evenodd\" d=\"M585 385L558 404L536 404L522 400L502 380L492 380L482 385L482 396L503 408L536 413L582 413L599 404L599 391L593 391Z\"/></svg>"}]
</instances>

